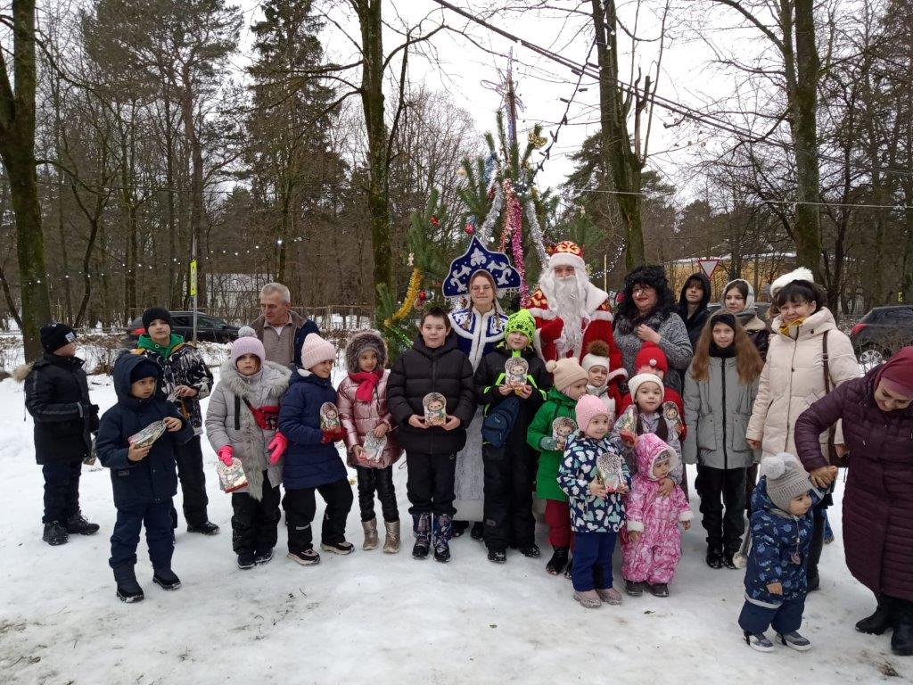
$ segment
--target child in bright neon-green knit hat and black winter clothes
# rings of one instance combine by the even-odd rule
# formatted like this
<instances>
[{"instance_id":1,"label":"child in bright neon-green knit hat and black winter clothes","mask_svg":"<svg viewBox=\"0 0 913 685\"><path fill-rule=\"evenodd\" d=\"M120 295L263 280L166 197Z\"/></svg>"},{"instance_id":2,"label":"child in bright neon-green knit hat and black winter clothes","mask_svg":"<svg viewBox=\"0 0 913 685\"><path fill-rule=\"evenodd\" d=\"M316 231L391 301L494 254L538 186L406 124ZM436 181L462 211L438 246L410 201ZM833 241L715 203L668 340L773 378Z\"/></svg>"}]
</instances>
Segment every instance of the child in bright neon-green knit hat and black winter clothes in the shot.
<instances>
[{"instance_id":1,"label":"child in bright neon-green knit hat and black winter clothes","mask_svg":"<svg viewBox=\"0 0 913 685\"><path fill-rule=\"evenodd\" d=\"M536 321L529 311L511 314L504 328L504 342L482 358L476 370L476 392L485 414L510 397L519 402L517 419L501 447L482 446L485 464L485 545L488 561L507 561L508 545L529 557L539 556L535 543L536 520L532 516L532 482L536 478L537 454L526 441L532 417L551 388L551 376L532 349ZM512 386L505 371L509 359L529 364L525 384ZM513 400L511 400L513 401Z\"/></svg>"}]
</instances>

